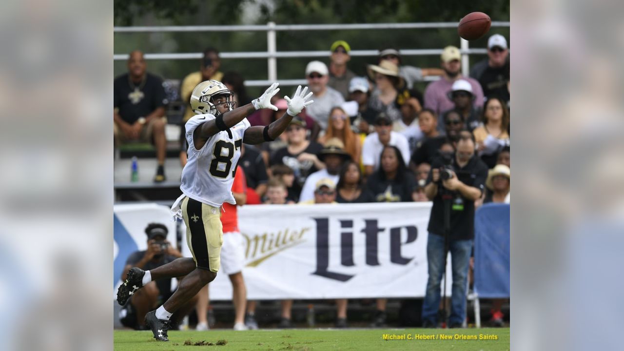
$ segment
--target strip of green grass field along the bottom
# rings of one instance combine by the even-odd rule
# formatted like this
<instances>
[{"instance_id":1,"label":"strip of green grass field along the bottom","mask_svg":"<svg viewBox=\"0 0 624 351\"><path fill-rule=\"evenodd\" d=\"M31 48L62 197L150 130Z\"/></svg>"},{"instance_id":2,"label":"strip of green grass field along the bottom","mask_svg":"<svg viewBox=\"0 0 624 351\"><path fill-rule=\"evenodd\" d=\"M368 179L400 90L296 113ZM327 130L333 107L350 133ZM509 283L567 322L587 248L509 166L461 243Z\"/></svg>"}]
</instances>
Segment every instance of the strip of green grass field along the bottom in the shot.
<instances>
[{"instance_id":1,"label":"strip of green grass field along the bottom","mask_svg":"<svg viewBox=\"0 0 624 351\"><path fill-rule=\"evenodd\" d=\"M405 340L384 340L384 334L405 335ZM440 335L450 335L441 340ZM115 330L114 349L141 350L509 350L509 328L483 329L288 329L170 331L169 342L158 342L150 331ZM414 340L414 335L434 335L434 340ZM477 340L459 340L475 335ZM497 340L479 340L479 335L496 335ZM411 340L407 340L407 337ZM185 342L191 345L185 345ZM219 340L225 345L216 345ZM194 345L212 343L215 345ZM223 344L223 342L219 342Z\"/></svg>"}]
</instances>

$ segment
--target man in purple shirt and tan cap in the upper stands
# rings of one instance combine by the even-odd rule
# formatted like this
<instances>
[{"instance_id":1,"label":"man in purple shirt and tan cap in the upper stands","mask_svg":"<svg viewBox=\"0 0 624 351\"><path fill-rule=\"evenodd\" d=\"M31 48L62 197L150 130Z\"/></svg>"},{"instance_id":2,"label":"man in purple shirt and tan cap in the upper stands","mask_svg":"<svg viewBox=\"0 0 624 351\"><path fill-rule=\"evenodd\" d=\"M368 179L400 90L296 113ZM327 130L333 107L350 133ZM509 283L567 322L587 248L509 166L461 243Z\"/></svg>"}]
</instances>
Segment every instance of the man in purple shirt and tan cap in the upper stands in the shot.
<instances>
[{"instance_id":1,"label":"man in purple shirt and tan cap in the upper stands","mask_svg":"<svg viewBox=\"0 0 624 351\"><path fill-rule=\"evenodd\" d=\"M453 102L449 100L448 94L457 79L465 79L472 86L472 93L475 96L474 107L480 108L483 106L483 91L479 82L470 77L462 77L461 58L462 56L457 47L445 47L441 55L441 66L444 69L444 75L439 81L431 82L425 89L425 107L436 111L436 114L438 114L438 129L440 130L442 126L442 112L453 107Z\"/></svg>"}]
</instances>

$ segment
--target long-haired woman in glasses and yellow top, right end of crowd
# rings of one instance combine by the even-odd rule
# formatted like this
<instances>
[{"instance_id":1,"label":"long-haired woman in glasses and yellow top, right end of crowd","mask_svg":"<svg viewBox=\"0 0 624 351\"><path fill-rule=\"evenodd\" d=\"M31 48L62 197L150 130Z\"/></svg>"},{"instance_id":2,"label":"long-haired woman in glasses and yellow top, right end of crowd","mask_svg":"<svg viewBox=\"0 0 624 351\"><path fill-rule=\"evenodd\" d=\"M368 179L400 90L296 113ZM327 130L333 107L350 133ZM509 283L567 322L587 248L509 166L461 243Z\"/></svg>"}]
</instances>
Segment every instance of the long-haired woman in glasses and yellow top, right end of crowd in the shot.
<instances>
[{"instance_id":1,"label":"long-haired woman in glasses and yellow top, right end of crowd","mask_svg":"<svg viewBox=\"0 0 624 351\"><path fill-rule=\"evenodd\" d=\"M496 165L498 152L509 145L509 111L498 97L490 97L485 102L483 124L477 127L474 139L477 142L479 157L488 168Z\"/></svg>"}]
</instances>

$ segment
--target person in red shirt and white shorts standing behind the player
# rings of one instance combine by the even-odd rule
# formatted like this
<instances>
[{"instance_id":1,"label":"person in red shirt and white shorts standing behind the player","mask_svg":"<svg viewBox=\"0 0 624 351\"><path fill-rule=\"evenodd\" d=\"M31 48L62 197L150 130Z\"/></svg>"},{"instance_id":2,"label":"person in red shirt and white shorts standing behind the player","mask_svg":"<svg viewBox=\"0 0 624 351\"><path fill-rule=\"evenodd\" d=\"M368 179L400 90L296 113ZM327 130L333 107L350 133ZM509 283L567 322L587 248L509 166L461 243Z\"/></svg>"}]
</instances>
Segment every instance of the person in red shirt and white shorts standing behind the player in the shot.
<instances>
[{"instance_id":1,"label":"person in red shirt and white shorts standing behind the player","mask_svg":"<svg viewBox=\"0 0 624 351\"><path fill-rule=\"evenodd\" d=\"M221 224L223 225L223 246L221 247L221 269L223 273L230 277L233 288L232 301L234 303L234 309L236 317L234 320L234 330L247 330L245 325L245 307L247 304L247 290L245 287L245 280L243 279L243 267L245 267L245 238L238 229L238 215L236 213L236 207L242 206L247 200L247 185L245 180L245 172L240 166L236 166L236 174L234 176L234 182L232 184L232 194L236 199L236 205L223 203L223 210L221 212ZM210 284L208 284L210 285ZM207 289L207 288L205 288ZM207 299L208 290L206 294L201 294L201 299ZM198 317L202 316L202 322L205 322L205 316L208 311L207 300L203 301L204 304L200 305L202 301L198 302ZM205 307L203 307L205 306ZM200 309L202 311L200 311Z\"/></svg>"}]
</instances>

